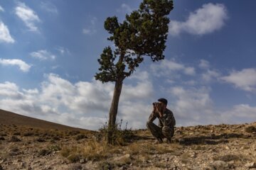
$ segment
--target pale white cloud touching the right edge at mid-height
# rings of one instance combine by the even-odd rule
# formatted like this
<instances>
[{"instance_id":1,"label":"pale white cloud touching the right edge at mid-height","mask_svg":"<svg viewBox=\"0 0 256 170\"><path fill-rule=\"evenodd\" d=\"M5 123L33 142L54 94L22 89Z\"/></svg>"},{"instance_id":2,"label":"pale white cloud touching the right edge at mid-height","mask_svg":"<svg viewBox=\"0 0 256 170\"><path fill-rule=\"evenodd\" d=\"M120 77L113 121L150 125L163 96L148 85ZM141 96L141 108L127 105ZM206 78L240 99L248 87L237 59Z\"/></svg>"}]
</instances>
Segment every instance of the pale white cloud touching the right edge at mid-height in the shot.
<instances>
[{"instance_id":1,"label":"pale white cloud touching the right edge at mid-height","mask_svg":"<svg viewBox=\"0 0 256 170\"><path fill-rule=\"evenodd\" d=\"M233 71L229 76L220 79L234 84L235 87L244 91L256 90L256 69L242 69L241 71Z\"/></svg>"}]
</instances>

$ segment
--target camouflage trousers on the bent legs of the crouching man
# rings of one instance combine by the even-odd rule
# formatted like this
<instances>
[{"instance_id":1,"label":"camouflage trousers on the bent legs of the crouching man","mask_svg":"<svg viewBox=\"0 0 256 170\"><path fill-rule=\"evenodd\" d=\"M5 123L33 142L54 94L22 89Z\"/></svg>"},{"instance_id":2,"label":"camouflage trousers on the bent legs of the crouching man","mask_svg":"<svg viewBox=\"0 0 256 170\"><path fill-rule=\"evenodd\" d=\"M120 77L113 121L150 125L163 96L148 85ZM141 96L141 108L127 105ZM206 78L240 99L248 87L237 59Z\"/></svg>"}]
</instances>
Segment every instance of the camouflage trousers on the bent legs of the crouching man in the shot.
<instances>
[{"instance_id":1,"label":"camouflage trousers on the bent legs of the crouching man","mask_svg":"<svg viewBox=\"0 0 256 170\"><path fill-rule=\"evenodd\" d=\"M174 128L170 128L169 126L159 127L152 122L147 122L146 128L148 128L151 134L157 139L166 137L167 140L171 140L171 137L174 136Z\"/></svg>"}]
</instances>

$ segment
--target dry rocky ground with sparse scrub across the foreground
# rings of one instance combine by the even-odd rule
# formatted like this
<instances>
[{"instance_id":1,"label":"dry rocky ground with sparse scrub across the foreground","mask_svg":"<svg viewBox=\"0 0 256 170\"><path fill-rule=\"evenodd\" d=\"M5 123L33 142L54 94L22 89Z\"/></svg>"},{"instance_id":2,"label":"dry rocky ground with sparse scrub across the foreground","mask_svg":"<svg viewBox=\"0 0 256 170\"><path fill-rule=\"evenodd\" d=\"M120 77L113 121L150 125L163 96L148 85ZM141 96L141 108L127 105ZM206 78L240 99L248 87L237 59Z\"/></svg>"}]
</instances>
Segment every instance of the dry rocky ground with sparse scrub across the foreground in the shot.
<instances>
[{"instance_id":1,"label":"dry rocky ground with sparse scrub across the foreground","mask_svg":"<svg viewBox=\"0 0 256 170\"><path fill-rule=\"evenodd\" d=\"M256 123L180 127L171 144L133 132L108 146L97 132L0 125L0 170L256 169Z\"/></svg>"}]
</instances>

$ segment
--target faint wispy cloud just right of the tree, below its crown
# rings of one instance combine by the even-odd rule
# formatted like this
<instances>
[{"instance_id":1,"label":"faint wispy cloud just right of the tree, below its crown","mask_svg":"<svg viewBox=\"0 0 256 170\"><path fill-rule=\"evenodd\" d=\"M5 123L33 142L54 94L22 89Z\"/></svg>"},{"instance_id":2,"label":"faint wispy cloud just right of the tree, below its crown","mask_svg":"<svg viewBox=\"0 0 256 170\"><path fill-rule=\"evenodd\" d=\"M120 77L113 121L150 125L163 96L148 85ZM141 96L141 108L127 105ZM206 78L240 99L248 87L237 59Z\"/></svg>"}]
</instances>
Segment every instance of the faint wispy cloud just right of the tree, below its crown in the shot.
<instances>
[{"instance_id":1,"label":"faint wispy cloud just right of the tree, below its crown","mask_svg":"<svg viewBox=\"0 0 256 170\"><path fill-rule=\"evenodd\" d=\"M151 71L156 76L166 76L173 72L182 72L186 75L195 75L196 71L193 67L186 67L183 64L179 64L173 60L162 60L157 64L151 64Z\"/></svg>"}]
</instances>

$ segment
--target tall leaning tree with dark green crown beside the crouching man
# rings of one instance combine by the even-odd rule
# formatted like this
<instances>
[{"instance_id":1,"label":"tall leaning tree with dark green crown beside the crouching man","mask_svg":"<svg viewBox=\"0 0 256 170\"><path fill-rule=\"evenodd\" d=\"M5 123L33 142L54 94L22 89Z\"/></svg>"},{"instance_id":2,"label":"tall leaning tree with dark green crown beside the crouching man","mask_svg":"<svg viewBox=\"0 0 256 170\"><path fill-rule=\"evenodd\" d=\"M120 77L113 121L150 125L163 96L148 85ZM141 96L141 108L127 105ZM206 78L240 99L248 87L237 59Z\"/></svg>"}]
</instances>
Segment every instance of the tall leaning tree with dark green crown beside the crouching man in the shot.
<instances>
[{"instance_id":1,"label":"tall leaning tree with dark green crown beside the crouching man","mask_svg":"<svg viewBox=\"0 0 256 170\"><path fill-rule=\"evenodd\" d=\"M110 33L110 40L115 49L105 47L98 62L100 68L95 79L102 83L114 82L114 94L110 107L107 142L112 143L112 129L116 125L119 97L122 84L136 67L143 62L144 57L150 57L153 62L164 60L165 42L169 30L170 11L174 8L171 0L144 0L137 11L126 15L119 23L116 16L108 17L105 30Z\"/></svg>"}]
</instances>

